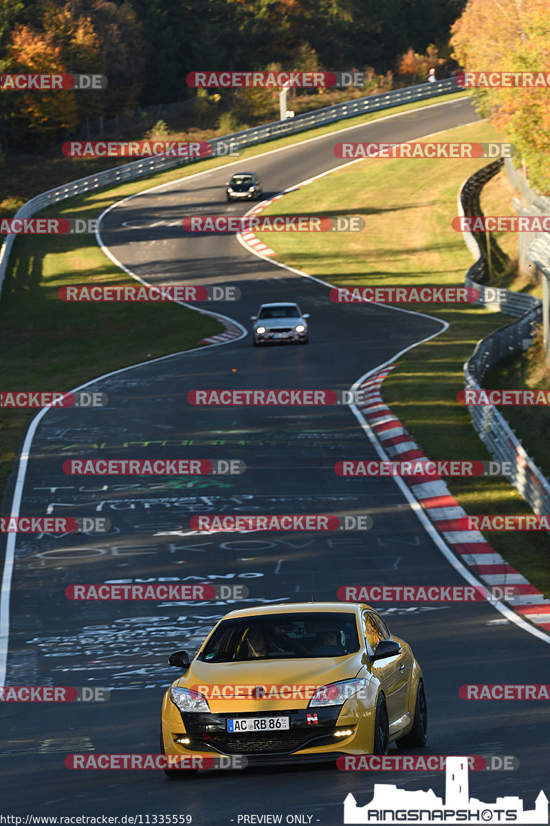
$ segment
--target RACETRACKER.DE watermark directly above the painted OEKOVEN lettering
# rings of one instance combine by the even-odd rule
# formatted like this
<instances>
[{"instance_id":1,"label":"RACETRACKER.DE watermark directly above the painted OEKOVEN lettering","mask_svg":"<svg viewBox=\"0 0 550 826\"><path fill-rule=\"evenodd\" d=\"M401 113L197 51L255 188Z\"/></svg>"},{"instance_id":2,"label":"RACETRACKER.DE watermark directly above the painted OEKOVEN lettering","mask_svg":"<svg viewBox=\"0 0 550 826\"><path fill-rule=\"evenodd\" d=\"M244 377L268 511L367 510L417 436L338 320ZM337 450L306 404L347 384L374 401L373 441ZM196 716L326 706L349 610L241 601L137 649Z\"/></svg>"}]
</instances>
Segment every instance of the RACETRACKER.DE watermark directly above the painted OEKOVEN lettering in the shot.
<instances>
[{"instance_id":1,"label":"RACETRACKER.DE watermark directly above the painted OEKOVEN lettering","mask_svg":"<svg viewBox=\"0 0 550 826\"><path fill-rule=\"evenodd\" d=\"M369 530L373 520L368 514L347 514L335 516L331 514L226 514L226 515L199 515L190 518L190 527L200 533L244 531L255 532L260 530Z\"/></svg>"}]
</instances>

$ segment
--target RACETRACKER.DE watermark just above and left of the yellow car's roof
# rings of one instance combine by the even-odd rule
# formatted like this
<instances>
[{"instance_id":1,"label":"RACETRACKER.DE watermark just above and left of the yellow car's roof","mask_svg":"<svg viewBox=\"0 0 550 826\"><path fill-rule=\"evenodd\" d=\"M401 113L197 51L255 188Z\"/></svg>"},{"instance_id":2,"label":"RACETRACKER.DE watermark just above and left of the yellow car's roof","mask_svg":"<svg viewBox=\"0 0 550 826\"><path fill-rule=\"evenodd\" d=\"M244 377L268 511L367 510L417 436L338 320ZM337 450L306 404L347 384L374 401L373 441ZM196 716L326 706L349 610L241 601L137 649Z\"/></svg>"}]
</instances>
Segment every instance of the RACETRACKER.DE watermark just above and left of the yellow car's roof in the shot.
<instances>
[{"instance_id":1,"label":"RACETRACKER.DE watermark just above and left of the yellow car's roof","mask_svg":"<svg viewBox=\"0 0 550 826\"><path fill-rule=\"evenodd\" d=\"M65 588L68 600L85 602L207 602L211 600L246 600L249 594L244 585L214 585L200 582L193 585L129 583L98 583L95 585L69 585Z\"/></svg>"}]
</instances>

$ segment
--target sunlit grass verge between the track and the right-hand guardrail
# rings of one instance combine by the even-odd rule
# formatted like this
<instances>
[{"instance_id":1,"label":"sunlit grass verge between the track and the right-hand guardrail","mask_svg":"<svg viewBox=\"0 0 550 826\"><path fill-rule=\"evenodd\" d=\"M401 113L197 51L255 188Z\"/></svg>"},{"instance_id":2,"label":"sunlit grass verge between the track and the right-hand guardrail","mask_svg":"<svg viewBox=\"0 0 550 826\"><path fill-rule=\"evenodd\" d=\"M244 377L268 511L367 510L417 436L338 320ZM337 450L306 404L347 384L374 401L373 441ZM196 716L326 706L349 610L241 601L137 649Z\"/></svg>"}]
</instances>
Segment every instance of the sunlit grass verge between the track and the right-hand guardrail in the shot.
<instances>
[{"instance_id":1,"label":"sunlit grass verge between the track and the right-hand guardrail","mask_svg":"<svg viewBox=\"0 0 550 826\"><path fill-rule=\"evenodd\" d=\"M438 140L501 140L486 122L449 130ZM346 235L258 233L291 267L333 284L461 285L472 255L462 235L451 229L458 187L486 160L369 159L321 178L266 209L266 214L357 214L363 232ZM508 215L498 203L496 184L488 202L493 214ZM342 210L341 193L346 192ZM513 254L510 247L509 254ZM399 359L383 383L383 398L416 442L433 459L488 460L468 411L458 405L463 363L479 339L507 323L509 316L473 306L411 305L449 322L436 339ZM342 308L345 312L345 308ZM546 411L536 410L542 420ZM470 515L529 514L532 511L502 478L449 479L451 493ZM488 542L541 591L550 593L550 549L546 534L491 532Z\"/></svg>"}]
</instances>

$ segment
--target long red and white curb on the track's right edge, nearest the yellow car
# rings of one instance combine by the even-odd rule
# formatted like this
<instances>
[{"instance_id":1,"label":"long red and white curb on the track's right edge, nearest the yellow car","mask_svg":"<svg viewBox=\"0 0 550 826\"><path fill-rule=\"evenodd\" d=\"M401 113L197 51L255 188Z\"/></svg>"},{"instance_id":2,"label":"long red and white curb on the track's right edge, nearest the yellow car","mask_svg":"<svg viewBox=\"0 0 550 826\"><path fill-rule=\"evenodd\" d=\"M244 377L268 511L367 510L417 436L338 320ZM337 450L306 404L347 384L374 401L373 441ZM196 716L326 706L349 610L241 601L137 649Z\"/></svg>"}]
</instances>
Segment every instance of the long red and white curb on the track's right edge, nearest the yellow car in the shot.
<instances>
[{"instance_id":1,"label":"long red and white curb on the track's right edge, nearest the yellow car","mask_svg":"<svg viewBox=\"0 0 550 826\"><path fill-rule=\"evenodd\" d=\"M395 367L388 365L360 385L357 407L389 457L426 459L402 422L383 402L380 387ZM459 528L460 518L468 514L451 496L441 477L403 477L403 481L463 564L488 586L515 586L519 594L507 603L509 608L538 628L550 631L550 601L496 553L478 530Z\"/></svg>"}]
</instances>

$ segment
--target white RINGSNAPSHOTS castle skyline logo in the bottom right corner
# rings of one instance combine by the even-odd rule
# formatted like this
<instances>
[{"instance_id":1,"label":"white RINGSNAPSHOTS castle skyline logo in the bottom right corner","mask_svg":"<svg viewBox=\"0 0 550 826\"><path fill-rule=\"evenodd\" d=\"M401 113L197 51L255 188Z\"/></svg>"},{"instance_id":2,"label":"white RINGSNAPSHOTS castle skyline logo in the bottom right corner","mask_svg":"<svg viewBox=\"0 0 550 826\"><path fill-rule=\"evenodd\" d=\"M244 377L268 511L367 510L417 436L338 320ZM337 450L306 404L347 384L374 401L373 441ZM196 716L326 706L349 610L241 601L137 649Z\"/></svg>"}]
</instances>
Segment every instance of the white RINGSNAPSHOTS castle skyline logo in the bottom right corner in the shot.
<instances>
[{"instance_id":1,"label":"white RINGSNAPSHOTS castle skyline logo in the bottom right corner","mask_svg":"<svg viewBox=\"0 0 550 826\"><path fill-rule=\"evenodd\" d=\"M344 801L345 824L548 824L548 797L541 791L535 808L524 811L520 797L497 797L482 803L469 797L468 758L447 757L445 800L428 791L407 791L374 784L373 799L358 806L353 795Z\"/></svg>"}]
</instances>

